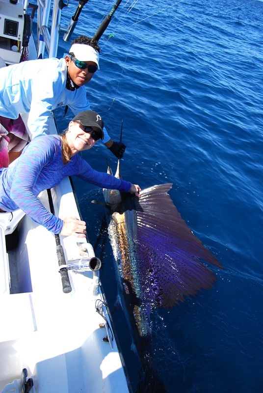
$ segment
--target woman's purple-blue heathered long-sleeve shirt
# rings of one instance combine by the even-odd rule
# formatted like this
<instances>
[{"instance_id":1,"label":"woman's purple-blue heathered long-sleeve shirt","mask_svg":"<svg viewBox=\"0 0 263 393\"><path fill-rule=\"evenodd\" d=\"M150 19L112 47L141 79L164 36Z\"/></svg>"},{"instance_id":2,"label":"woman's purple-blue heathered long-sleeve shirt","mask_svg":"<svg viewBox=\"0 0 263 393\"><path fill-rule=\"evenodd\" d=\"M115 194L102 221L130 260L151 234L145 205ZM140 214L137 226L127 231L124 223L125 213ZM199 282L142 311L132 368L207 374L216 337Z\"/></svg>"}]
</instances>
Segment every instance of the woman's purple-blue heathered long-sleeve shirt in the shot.
<instances>
[{"instance_id":1,"label":"woman's purple-blue heathered long-sleeve shirt","mask_svg":"<svg viewBox=\"0 0 263 393\"><path fill-rule=\"evenodd\" d=\"M94 170L79 154L63 164L60 138L45 135L32 140L8 168L0 169L0 208L5 211L21 208L34 222L59 233L63 220L50 213L37 196L71 175L108 189L129 192L132 186L130 182Z\"/></svg>"}]
</instances>

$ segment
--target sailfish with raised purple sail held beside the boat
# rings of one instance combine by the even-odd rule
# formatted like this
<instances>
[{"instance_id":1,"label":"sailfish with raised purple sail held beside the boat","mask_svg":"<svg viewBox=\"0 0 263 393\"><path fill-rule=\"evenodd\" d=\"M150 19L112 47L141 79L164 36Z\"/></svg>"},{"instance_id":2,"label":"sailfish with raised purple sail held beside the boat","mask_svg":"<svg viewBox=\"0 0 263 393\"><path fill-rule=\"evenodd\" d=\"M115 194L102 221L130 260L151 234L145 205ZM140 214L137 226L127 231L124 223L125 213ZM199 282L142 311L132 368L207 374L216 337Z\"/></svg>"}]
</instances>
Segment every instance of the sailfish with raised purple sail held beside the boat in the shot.
<instances>
[{"instance_id":1,"label":"sailfish with raised purple sail held beside the boat","mask_svg":"<svg viewBox=\"0 0 263 393\"><path fill-rule=\"evenodd\" d=\"M107 173L112 174L109 166ZM115 177L121 178L120 160ZM202 260L222 268L182 219L168 194L171 187L154 185L140 197L103 189L125 303L128 299L141 337L150 332L153 309L171 308L212 286L215 276Z\"/></svg>"}]
</instances>

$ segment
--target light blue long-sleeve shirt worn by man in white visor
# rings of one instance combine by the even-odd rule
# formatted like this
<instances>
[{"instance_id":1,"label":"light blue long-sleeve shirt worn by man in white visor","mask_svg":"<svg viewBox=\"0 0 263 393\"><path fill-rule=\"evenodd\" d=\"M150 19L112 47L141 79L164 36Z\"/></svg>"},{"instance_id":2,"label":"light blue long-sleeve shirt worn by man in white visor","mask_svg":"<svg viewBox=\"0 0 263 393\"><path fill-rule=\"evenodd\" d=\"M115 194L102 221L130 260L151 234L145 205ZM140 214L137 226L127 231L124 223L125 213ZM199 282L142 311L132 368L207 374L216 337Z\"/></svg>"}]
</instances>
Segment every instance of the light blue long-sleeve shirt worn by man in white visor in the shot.
<instances>
[{"instance_id":1,"label":"light blue long-sleeve shirt worn by man in white visor","mask_svg":"<svg viewBox=\"0 0 263 393\"><path fill-rule=\"evenodd\" d=\"M27 126L31 138L49 134L51 111L68 105L74 115L89 111L86 89L66 88L67 67L64 58L23 61L0 68L0 116L17 119L29 113ZM104 140L110 140L104 128Z\"/></svg>"}]
</instances>

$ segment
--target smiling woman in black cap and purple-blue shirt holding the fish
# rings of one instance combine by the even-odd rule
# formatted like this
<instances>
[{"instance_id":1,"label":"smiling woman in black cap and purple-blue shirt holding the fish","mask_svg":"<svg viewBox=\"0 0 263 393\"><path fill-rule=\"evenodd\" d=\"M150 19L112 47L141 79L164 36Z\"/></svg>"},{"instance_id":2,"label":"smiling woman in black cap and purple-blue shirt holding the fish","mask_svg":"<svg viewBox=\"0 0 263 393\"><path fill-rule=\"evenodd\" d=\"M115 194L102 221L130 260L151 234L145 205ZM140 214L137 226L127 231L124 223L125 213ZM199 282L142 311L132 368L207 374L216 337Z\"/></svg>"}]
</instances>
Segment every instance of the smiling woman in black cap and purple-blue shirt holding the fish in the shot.
<instances>
[{"instance_id":1,"label":"smiling woman in black cap and purple-blue shirt holding the fish","mask_svg":"<svg viewBox=\"0 0 263 393\"><path fill-rule=\"evenodd\" d=\"M139 196L138 185L92 169L77 154L91 149L97 140L103 140L103 127L98 113L84 111L74 117L63 135L45 135L32 140L17 160L8 168L0 169L0 211L21 208L33 221L53 233L85 237L84 221L55 217L42 205L38 194L53 188L65 176L77 175L96 186Z\"/></svg>"}]
</instances>

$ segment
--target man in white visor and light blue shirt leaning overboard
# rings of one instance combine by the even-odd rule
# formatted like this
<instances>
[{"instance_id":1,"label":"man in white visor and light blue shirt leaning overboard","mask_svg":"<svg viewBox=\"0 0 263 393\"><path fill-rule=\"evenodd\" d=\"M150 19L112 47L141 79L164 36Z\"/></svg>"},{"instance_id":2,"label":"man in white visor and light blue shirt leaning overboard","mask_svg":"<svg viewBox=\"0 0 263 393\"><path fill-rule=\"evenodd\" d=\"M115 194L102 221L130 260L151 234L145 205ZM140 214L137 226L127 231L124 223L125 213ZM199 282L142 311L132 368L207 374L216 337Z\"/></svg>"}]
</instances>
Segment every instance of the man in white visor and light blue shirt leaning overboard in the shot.
<instances>
[{"instance_id":1,"label":"man in white visor and light blue shirt leaning overboard","mask_svg":"<svg viewBox=\"0 0 263 393\"><path fill-rule=\"evenodd\" d=\"M84 85L99 69L99 52L97 42L80 36L72 42L65 58L29 60L1 68L0 116L3 117L0 117L0 123L6 127L6 118L17 119L11 120L12 124L6 128L9 140L12 132L20 138L25 134L21 127L16 133L16 123L21 126L20 113L28 113L27 127L30 138L34 139L49 134L52 110L62 105L67 105L74 114L90 110ZM104 135L105 146L117 158L122 158L126 146L111 140L105 128ZM27 140L23 139L25 145Z\"/></svg>"}]
</instances>

